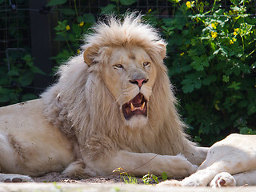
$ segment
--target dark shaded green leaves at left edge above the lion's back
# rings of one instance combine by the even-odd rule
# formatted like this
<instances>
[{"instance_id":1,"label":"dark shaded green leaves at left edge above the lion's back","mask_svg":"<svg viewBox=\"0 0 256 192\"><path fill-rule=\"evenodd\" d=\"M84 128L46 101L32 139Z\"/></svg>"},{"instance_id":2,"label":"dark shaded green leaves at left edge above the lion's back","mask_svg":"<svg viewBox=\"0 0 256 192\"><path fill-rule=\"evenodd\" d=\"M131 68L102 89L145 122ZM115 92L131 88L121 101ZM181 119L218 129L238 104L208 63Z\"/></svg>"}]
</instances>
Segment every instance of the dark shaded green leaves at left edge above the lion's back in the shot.
<instances>
[{"instance_id":1,"label":"dark shaded green leaves at left edge above the lion's back","mask_svg":"<svg viewBox=\"0 0 256 192\"><path fill-rule=\"evenodd\" d=\"M18 58L19 54L13 51L9 61L6 60L10 66L0 66L0 106L38 98L33 91L27 89L32 88L34 74L45 73L34 66L34 58L30 54L25 54L21 60Z\"/></svg>"}]
</instances>

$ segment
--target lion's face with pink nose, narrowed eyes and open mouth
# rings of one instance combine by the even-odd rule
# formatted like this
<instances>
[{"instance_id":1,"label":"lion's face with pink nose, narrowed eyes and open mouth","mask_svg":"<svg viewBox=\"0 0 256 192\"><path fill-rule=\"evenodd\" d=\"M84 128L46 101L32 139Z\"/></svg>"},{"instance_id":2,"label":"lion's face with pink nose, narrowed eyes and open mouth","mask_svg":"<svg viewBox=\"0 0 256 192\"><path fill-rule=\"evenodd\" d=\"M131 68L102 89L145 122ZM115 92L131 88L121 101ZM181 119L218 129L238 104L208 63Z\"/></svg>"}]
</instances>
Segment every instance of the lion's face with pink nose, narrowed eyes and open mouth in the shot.
<instances>
[{"instance_id":1,"label":"lion's face with pink nose, narrowed eyes and open mouth","mask_svg":"<svg viewBox=\"0 0 256 192\"><path fill-rule=\"evenodd\" d=\"M156 79L156 66L142 47L114 47L102 78L129 126L147 122L150 95Z\"/></svg>"}]
</instances>

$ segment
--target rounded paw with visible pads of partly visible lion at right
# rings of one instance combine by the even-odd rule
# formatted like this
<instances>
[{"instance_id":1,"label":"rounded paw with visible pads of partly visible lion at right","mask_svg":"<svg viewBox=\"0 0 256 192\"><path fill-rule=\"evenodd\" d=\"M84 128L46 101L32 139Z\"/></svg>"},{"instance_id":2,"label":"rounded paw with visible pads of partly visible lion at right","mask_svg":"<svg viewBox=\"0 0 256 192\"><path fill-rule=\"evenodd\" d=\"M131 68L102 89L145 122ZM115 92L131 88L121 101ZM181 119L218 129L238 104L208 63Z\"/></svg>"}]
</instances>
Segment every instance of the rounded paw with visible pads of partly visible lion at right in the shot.
<instances>
[{"instance_id":1,"label":"rounded paw with visible pads of partly visible lion at right","mask_svg":"<svg viewBox=\"0 0 256 192\"><path fill-rule=\"evenodd\" d=\"M214 179L210 182L210 186L213 188L222 186L236 186L236 181L231 174L222 172L215 175Z\"/></svg>"}]
</instances>

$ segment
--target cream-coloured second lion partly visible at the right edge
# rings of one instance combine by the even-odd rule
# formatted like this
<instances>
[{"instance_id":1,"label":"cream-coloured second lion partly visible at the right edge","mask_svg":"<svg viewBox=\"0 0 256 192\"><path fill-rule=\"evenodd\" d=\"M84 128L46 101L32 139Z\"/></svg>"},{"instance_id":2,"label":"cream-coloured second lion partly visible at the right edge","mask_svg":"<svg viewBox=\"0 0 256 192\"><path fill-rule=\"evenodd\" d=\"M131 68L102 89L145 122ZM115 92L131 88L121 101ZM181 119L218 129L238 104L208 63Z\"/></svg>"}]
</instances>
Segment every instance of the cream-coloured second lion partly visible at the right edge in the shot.
<instances>
[{"instance_id":1,"label":"cream-coloured second lion partly visible at the right edge","mask_svg":"<svg viewBox=\"0 0 256 192\"><path fill-rule=\"evenodd\" d=\"M256 135L230 134L210 147L206 160L195 174L178 181L162 182L171 186L256 185Z\"/></svg>"}]
</instances>

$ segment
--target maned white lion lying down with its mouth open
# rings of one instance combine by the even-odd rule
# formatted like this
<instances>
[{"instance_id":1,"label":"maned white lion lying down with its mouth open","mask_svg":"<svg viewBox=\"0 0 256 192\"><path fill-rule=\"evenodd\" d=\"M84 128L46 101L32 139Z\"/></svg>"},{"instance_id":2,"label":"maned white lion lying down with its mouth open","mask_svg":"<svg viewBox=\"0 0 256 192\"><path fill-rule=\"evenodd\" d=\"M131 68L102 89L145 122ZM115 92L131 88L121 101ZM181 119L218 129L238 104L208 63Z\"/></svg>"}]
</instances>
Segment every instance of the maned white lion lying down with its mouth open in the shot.
<instances>
[{"instance_id":1,"label":"maned white lion lying down with its mouth open","mask_svg":"<svg viewBox=\"0 0 256 192\"><path fill-rule=\"evenodd\" d=\"M110 16L93 31L41 98L0 109L0 181L106 176L118 167L184 178L206 158L208 148L185 134L158 31L140 14Z\"/></svg>"}]
</instances>

